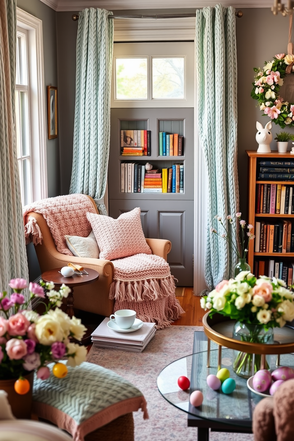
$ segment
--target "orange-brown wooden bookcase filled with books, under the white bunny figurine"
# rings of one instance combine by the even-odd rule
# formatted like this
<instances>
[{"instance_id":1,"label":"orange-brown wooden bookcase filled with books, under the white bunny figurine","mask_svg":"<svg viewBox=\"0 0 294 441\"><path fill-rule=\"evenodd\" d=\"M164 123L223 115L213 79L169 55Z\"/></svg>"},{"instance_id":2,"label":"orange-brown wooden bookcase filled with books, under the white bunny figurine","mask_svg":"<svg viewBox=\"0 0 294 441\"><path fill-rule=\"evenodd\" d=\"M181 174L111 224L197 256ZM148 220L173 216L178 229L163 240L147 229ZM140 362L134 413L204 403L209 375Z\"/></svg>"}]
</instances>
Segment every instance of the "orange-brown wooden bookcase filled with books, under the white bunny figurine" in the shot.
<instances>
[{"instance_id":1,"label":"orange-brown wooden bookcase filled with books, under the white bunny figurine","mask_svg":"<svg viewBox=\"0 0 294 441\"><path fill-rule=\"evenodd\" d=\"M249 223L255 239L248 263L255 276L294 281L294 155L257 153L249 156Z\"/></svg>"}]
</instances>

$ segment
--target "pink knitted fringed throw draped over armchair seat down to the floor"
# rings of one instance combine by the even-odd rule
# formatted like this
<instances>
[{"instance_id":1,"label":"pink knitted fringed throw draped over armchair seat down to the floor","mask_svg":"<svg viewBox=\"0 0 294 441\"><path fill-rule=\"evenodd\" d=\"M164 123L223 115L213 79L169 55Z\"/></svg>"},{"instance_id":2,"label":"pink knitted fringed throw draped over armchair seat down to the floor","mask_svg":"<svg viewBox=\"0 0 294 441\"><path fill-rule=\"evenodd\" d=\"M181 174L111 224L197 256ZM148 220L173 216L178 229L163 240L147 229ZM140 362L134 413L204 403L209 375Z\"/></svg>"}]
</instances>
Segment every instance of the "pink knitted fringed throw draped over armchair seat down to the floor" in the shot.
<instances>
[{"instance_id":1,"label":"pink knitted fringed throw draped over armchair seat down to the floor","mask_svg":"<svg viewBox=\"0 0 294 441\"><path fill-rule=\"evenodd\" d=\"M157 329L170 325L185 311L175 298L175 281L168 263L155 254L135 254L112 261L115 270L110 299L115 311L133 309L142 321Z\"/></svg>"}]
</instances>

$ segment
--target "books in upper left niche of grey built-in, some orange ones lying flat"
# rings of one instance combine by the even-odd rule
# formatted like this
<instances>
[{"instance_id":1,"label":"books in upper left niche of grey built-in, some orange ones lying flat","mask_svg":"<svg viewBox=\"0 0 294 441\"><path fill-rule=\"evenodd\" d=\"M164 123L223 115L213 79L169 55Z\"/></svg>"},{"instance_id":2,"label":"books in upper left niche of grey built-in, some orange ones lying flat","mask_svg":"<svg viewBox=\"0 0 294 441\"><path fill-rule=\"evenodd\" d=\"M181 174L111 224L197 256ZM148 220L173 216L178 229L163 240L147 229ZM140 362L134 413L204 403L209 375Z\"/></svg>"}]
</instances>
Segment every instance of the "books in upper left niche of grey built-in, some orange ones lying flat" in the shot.
<instances>
[{"instance_id":1,"label":"books in upper left niche of grey built-in, some orange ones lying flat","mask_svg":"<svg viewBox=\"0 0 294 441\"><path fill-rule=\"evenodd\" d=\"M122 156L151 156L150 130L121 130Z\"/></svg>"}]
</instances>

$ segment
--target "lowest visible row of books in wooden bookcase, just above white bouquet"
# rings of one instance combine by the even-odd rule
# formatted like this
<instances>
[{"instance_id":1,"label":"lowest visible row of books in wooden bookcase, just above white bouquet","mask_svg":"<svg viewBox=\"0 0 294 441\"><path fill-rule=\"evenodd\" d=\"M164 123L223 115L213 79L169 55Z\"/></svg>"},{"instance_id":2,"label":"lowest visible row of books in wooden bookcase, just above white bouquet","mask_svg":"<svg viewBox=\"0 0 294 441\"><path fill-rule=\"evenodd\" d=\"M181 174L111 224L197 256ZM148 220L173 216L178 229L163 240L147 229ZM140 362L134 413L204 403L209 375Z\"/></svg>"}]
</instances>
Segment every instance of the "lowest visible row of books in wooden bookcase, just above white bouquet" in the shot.
<instances>
[{"instance_id":1,"label":"lowest visible row of books in wooden bookcase, just above white bouquet","mask_svg":"<svg viewBox=\"0 0 294 441\"><path fill-rule=\"evenodd\" d=\"M285 284L290 287L294 280L294 262L283 262L274 259L268 260L254 260L254 274L259 276L275 277L283 280Z\"/></svg>"}]
</instances>

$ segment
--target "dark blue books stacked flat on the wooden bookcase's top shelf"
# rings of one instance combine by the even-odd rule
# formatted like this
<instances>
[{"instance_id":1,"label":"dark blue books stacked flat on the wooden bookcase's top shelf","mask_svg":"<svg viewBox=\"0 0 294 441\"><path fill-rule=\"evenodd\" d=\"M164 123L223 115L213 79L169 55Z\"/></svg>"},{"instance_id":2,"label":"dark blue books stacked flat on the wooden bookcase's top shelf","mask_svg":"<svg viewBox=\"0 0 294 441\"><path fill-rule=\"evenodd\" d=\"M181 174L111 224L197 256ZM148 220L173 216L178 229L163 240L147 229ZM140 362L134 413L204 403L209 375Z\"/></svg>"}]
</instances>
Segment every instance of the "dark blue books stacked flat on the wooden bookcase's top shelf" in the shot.
<instances>
[{"instance_id":1,"label":"dark blue books stacked flat on the wooden bookcase's top shelf","mask_svg":"<svg viewBox=\"0 0 294 441\"><path fill-rule=\"evenodd\" d=\"M294 161L273 160L258 162L258 179L294 180Z\"/></svg>"}]
</instances>

